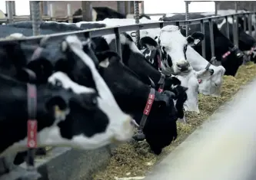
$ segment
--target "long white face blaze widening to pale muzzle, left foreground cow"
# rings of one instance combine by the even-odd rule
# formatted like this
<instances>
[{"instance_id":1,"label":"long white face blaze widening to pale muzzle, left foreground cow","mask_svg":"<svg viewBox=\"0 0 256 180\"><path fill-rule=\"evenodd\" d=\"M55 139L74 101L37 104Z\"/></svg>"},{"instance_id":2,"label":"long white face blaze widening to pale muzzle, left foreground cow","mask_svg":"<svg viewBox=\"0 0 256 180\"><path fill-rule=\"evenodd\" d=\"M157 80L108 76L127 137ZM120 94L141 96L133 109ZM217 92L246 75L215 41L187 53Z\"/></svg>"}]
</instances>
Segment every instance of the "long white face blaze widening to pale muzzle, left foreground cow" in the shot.
<instances>
[{"instance_id":1,"label":"long white face blaze widening to pale muzzle, left foreground cow","mask_svg":"<svg viewBox=\"0 0 256 180\"><path fill-rule=\"evenodd\" d=\"M130 139L134 131L134 126L131 125L131 116L121 111L107 84L100 76L100 74L98 74L98 70L96 70L95 64L91 58L88 57L88 55L85 54L85 52L82 50L81 41L79 41L76 36L68 36L65 41L68 42L68 46L71 48L71 51L80 57L81 61L84 61L85 64L90 68L100 97L98 98L98 106L108 116L110 121L105 133L98 133L91 137L90 140L102 142L101 139L115 138L120 141L126 141Z\"/></svg>"}]
</instances>

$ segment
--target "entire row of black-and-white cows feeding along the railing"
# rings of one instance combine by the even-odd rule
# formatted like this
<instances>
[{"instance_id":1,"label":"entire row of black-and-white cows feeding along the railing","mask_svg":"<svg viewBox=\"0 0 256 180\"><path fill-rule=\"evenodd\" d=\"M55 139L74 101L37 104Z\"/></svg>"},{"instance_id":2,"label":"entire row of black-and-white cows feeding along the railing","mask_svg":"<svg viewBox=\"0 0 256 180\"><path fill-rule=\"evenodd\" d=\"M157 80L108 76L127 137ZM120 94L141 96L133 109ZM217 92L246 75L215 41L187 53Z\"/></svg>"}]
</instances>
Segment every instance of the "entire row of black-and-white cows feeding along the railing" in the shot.
<instances>
[{"instance_id":1,"label":"entire row of black-and-white cows feeding along the railing","mask_svg":"<svg viewBox=\"0 0 256 180\"><path fill-rule=\"evenodd\" d=\"M134 19L125 17L103 17L102 21L76 23L42 21L40 33L135 24ZM162 21L184 19L185 15L161 18ZM140 21L155 22L145 16L141 16ZM243 24L245 19L240 21ZM223 27L231 22L220 24ZM244 61L255 61L256 40L240 28L238 48L214 22L215 57L211 57L208 23L205 23L204 34L200 32L200 25L191 25L188 37L183 28L175 25L142 30L141 49L135 45L133 32L127 31L120 34L120 57L115 52L115 34L16 41L32 36L32 22L1 25L0 38L14 39L0 41L0 132L1 137L10 136L2 138L1 156L18 152L15 164L25 159L27 91L32 84L36 85L38 99L38 147L97 149L131 139L135 127L139 126L151 151L161 154L162 149L177 138L176 123L185 123L184 111L200 113L198 93L220 96L224 74L234 76ZM201 57L203 40L206 59ZM35 74L34 78L31 74Z\"/></svg>"}]
</instances>

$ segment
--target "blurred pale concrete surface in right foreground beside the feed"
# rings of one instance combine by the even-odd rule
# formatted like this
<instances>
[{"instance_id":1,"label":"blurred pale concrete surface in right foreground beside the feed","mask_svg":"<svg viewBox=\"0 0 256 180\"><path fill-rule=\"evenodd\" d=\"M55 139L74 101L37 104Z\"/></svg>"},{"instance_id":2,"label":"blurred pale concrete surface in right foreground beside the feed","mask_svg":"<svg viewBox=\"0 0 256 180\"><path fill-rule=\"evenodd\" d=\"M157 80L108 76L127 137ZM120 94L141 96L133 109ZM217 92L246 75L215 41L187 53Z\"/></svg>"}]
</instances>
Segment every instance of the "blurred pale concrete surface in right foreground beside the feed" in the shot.
<instances>
[{"instance_id":1,"label":"blurred pale concrete surface in right foreground beside the feed","mask_svg":"<svg viewBox=\"0 0 256 180\"><path fill-rule=\"evenodd\" d=\"M144 180L255 180L256 80L214 113Z\"/></svg>"}]
</instances>

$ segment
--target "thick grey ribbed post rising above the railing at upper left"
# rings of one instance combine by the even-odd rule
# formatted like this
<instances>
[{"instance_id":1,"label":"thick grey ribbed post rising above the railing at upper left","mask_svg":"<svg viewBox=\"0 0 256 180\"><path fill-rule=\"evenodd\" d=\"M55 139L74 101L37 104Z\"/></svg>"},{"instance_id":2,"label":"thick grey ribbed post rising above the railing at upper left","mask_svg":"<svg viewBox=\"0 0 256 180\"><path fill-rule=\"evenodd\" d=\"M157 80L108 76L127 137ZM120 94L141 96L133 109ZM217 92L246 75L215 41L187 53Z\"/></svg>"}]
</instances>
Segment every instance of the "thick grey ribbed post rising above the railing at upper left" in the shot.
<instances>
[{"instance_id":1,"label":"thick grey ribbed post rising above the railing at upper left","mask_svg":"<svg viewBox=\"0 0 256 180\"><path fill-rule=\"evenodd\" d=\"M38 1L32 2L32 28L33 28L33 35L40 34L40 6Z\"/></svg>"}]
</instances>

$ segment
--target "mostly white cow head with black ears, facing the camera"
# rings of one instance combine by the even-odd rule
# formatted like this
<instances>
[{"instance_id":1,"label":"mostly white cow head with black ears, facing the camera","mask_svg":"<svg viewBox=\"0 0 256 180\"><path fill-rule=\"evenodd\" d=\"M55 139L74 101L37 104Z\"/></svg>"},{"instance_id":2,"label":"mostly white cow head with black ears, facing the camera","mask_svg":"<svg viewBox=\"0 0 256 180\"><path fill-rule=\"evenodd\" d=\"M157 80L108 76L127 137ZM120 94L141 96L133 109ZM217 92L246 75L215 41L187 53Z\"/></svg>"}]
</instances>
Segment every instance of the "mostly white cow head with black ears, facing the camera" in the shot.
<instances>
[{"instance_id":1,"label":"mostly white cow head with black ears, facing the camera","mask_svg":"<svg viewBox=\"0 0 256 180\"><path fill-rule=\"evenodd\" d=\"M157 38L158 36L156 36ZM152 38L144 37L141 38L141 44L148 47L151 54L159 54L163 71L167 71L168 74L179 74L180 72L191 70L186 57L188 45L198 44L203 38L203 34L196 32L186 39L182 36L177 26L168 25L161 28L158 42ZM154 53L157 44L160 46L159 53ZM145 55L147 56L147 54Z\"/></svg>"}]
</instances>

